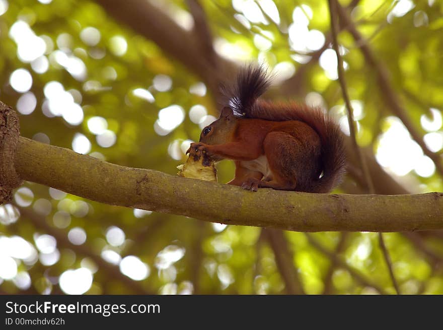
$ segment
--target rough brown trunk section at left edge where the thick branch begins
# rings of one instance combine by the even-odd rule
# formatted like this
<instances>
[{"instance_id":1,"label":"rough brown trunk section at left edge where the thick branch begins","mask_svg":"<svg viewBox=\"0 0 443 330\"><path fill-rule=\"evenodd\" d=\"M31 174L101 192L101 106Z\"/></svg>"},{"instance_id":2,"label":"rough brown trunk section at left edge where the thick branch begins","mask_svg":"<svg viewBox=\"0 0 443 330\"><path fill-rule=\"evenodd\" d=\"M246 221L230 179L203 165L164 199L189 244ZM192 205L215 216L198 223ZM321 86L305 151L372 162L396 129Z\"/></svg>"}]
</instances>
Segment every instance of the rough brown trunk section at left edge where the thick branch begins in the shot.
<instances>
[{"instance_id":1,"label":"rough brown trunk section at left edge where the thick branch begins","mask_svg":"<svg viewBox=\"0 0 443 330\"><path fill-rule=\"evenodd\" d=\"M0 204L11 201L12 190L22 184L14 166L19 137L19 116L0 101Z\"/></svg>"}]
</instances>

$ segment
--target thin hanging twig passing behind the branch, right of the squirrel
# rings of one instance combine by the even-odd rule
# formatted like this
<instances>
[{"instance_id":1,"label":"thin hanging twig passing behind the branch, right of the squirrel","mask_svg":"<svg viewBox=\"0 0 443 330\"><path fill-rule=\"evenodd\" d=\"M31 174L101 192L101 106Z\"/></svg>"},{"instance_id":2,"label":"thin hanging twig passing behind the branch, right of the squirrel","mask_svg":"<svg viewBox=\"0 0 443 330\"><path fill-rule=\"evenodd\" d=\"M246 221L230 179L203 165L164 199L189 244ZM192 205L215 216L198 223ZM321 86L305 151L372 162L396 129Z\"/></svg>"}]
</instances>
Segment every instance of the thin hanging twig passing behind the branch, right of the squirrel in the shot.
<instances>
[{"instance_id":1,"label":"thin hanging twig passing behind the branch, right of the squirrel","mask_svg":"<svg viewBox=\"0 0 443 330\"><path fill-rule=\"evenodd\" d=\"M363 156L361 154L361 150L358 147L356 136L355 136L354 116L353 116L353 112L352 112L351 102L349 100L349 95L347 92L346 81L344 78L343 59L340 55L340 50L338 47L337 22L336 22L335 15L337 12L337 10L336 10L337 6L339 6L339 5L337 3L337 0L328 0L328 3L329 3L330 18L331 18L331 32L332 32L332 39L333 39L332 45L333 45L334 50L337 54L338 80L340 82L340 87L341 87L341 91L343 94L343 99L346 104L346 109L347 109L347 113L348 113L347 117L348 117L348 123L349 123L350 137L351 137L353 148L354 148L355 153L357 154L359 162L360 162L360 166L361 166L361 170L363 172L364 181L365 181L367 190L370 194L374 194L375 189L374 189L374 185L371 180L371 175L370 175L369 170L367 168L367 164L363 159ZM392 270L391 257L389 256L389 252L386 249L386 245L385 245L382 233L379 233L379 243L380 243L380 248L382 249L383 255L385 257L386 265L389 269L389 274L391 276L391 280L394 285L394 288L395 288L397 294L400 294L399 286L397 284L397 280L396 280L396 278L394 276L394 272Z\"/></svg>"}]
</instances>

